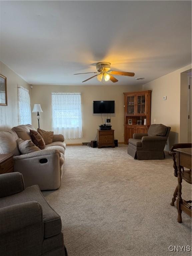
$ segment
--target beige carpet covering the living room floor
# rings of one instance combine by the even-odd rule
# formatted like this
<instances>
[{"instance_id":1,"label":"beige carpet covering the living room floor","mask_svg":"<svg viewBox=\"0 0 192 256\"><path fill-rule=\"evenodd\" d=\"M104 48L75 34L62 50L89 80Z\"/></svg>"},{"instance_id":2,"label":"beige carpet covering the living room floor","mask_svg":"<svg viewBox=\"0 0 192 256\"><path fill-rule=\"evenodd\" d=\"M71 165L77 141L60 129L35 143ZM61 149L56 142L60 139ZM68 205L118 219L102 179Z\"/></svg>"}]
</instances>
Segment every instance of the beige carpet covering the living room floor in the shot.
<instances>
[{"instance_id":1,"label":"beige carpet covering the living room floor","mask_svg":"<svg viewBox=\"0 0 192 256\"><path fill-rule=\"evenodd\" d=\"M177 179L173 162L134 160L127 146L68 146L61 187L43 192L61 215L69 256L166 256L191 246L191 218L170 206ZM186 196L188 197L186 198ZM183 198L191 186L183 182Z\"/></svg>"}]
</instances>

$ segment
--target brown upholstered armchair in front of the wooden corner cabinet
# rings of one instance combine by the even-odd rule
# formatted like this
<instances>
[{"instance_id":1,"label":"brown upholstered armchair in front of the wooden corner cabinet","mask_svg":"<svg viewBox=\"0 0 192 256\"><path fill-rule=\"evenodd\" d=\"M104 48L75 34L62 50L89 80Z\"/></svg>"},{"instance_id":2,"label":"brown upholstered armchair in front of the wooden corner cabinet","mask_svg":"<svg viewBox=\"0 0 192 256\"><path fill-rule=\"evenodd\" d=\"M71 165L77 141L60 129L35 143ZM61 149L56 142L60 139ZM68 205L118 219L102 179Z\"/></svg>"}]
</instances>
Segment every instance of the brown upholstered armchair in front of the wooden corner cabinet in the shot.
<instances>
[{"instance_id":1,"label":"brown upholstered armchair in front of the wooden corner cabinet","mask_svg":"<svg viewBox=\"0 0 192 256\"><path fill-rule=\"evenodd\" d=\"M138 160L164 159L164 148L171 127L163 124L152 124L148 133L134 133L129 139L127 152Z\"/></svg>"}]
</instances>

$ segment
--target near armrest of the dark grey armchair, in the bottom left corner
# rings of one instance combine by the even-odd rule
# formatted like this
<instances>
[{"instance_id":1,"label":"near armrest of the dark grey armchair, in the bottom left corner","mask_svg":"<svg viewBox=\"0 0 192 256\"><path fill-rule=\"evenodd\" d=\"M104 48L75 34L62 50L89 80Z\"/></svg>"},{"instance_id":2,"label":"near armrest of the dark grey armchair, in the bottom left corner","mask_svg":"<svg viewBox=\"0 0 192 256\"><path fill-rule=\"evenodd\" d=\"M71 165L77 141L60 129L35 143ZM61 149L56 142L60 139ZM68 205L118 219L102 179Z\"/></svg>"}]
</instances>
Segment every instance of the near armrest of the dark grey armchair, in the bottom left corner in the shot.
<instances>
[{"instance_id":1,"label":"near armrest of the dark grey armchair, in the bottom left corner","mask_svg":"<svg viewBox=\"0 0 192 256\"><path fill-rule=\"evenodd\" d=\"M0 208L1 255L41 255L43 213L36 201Z\"/></svg>"}]
</instances>

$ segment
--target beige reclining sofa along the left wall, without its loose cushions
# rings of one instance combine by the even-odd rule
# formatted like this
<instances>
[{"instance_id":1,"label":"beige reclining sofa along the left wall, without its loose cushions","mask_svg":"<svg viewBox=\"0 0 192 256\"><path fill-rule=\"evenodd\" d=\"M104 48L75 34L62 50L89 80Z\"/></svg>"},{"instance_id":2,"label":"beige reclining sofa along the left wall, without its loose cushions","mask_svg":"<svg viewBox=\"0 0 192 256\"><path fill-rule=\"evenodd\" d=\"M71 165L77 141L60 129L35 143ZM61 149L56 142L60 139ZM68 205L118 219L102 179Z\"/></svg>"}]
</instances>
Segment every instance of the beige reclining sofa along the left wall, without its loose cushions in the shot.
<instances>
[{"instance_id":1,"label":"beige reclining sofa along the left wall, without its loose cushions","mask_svg":"<svg viewBox=\"0 0 192 256\"><path fill-rule=\"evenodd\" d=\"M45 149L21 155L17 139L30 140L32 125L19 125L0 132L0 154L13 153L14 172L23 175L25 187L38 185L41 190L58 189L61 185L66 144L63 135L54 135Z\"/></svg>"}]
</instances>

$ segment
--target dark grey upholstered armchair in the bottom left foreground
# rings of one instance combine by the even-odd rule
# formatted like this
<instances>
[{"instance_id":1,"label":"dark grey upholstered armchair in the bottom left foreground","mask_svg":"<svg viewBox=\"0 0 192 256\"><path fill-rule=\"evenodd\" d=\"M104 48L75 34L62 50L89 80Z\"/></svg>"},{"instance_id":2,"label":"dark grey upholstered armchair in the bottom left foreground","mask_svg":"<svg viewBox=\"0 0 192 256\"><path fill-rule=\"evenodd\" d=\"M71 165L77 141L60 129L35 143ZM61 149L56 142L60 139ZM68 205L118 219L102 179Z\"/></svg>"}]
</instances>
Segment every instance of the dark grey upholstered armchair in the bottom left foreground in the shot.
<instances>
[{"instance_id":1,"label":"dark grey upholstered armchair in the bottom left foreground","mask_svg":"<svg viewBox=\"0 0 192 256\"><path fill-rule=\"evenodd\" d=\"M19 172L0 175L0 255L67 256L61 217Z\"/></svg>"}]
</instances>

